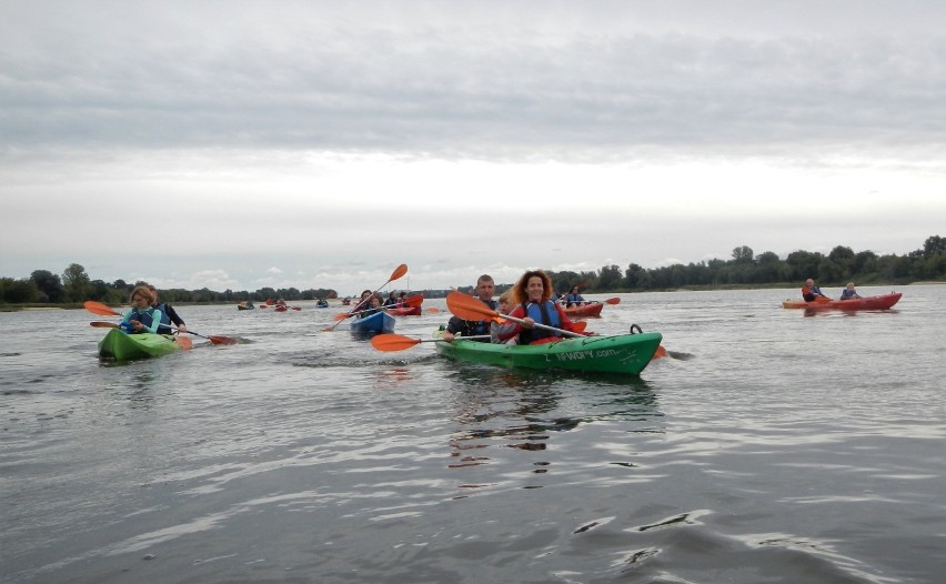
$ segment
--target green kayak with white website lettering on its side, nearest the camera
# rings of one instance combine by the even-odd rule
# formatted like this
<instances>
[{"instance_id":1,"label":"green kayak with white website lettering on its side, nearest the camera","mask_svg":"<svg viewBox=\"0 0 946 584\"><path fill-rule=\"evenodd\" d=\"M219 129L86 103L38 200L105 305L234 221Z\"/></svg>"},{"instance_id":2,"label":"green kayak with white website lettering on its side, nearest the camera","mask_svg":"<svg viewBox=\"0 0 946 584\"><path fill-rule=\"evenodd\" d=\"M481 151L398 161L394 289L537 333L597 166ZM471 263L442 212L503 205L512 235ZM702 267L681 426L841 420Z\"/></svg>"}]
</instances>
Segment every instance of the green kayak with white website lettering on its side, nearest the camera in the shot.
<instances>
[{"instance_id":1,"label":"green kayak with white website lettering on its side, nearest the camera","mask_svg":"<svg viewBox=\"0 0 946 584\"><path fill-rule=\"evenodd\" d=\"M537 345L456 340L434 346L437 354L473 363L636 375L651 362L661 340L661 333L641 333L582 336Z\"/></svg>"}]
</instances>

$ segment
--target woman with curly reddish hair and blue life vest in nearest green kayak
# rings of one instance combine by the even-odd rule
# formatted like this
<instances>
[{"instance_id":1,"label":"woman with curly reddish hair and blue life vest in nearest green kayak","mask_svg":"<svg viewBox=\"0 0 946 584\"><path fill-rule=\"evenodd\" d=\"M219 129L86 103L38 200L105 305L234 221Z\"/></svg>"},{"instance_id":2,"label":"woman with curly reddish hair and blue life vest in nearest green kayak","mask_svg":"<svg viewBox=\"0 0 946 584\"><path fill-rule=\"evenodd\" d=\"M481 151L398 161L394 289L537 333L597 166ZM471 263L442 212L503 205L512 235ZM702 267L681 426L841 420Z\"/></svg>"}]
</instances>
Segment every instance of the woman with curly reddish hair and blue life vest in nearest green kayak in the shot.
<instances>
[{"instance_id":1,"label":"woman with curly reddish hair and blue life vest in nearest green kayak","mask_svg":"<svg viewBox=\"0 0 946 584\"><path fill-rule=\"evenodd\" d=\"M536 322L587 336L587 333L576 331L565 314L565 309L552 301L552 280L542 270L530 270L522 274L513 286L513 299L519 305L510 316L522 319L524 322L516 322L511 333L500 334L501 341L512 339L516 334L519 344L542 344L562 340L553 331L534 328Z\"/></svg>"}]
</instances>

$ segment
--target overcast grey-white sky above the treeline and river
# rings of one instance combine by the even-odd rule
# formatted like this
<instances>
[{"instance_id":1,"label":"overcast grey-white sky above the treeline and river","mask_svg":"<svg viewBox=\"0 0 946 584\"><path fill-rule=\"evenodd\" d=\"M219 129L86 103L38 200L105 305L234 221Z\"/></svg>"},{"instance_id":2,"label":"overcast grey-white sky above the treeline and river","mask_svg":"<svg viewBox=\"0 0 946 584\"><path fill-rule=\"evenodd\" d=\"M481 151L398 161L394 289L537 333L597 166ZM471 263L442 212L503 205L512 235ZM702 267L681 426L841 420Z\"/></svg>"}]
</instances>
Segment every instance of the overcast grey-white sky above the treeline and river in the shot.
<instances>
[{"instance_id":1,"label":"overcast grey-white sky above the treeline and river","mask_svg":"<svg viewBox=\"0 0 946 584\"><path fill-rule=\"evenodd\" d=\"M413 289L946 235L946 2L0 0L0 275Z\"/></svg>"}]
</instances>

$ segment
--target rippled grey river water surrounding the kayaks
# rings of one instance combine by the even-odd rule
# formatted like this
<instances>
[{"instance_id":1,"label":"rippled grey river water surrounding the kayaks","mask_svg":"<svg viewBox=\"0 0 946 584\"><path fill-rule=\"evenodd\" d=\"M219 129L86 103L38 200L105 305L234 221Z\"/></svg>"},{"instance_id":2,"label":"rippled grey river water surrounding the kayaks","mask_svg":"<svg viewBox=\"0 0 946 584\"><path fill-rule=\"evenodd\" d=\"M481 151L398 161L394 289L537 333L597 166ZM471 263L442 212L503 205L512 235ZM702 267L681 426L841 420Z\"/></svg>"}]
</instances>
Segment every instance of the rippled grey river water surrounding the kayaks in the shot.
<instances>
[{"instance_id":1,"label":"rippled grey river water surrounding the kayaks","mask_svg":"<svg viewBox=\"0 0 946 584\"><path fill-rule=\"evenodd\" d=\"M662 332L640 377L382 353L336 305L184 306L243 342L123 365L107 319L0 313L0 581L939 582L946 286L899 291L624 294L588 330Z\"/></svg>"}]
</instances>

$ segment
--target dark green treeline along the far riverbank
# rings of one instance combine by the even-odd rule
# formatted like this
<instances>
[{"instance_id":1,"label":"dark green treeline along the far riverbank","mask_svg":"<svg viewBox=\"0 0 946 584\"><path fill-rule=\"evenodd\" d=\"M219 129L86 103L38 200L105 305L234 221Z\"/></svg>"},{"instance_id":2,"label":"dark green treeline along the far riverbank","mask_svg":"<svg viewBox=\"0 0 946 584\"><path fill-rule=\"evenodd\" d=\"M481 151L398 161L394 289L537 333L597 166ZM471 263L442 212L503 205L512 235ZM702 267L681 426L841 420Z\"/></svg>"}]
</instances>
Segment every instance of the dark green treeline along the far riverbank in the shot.
<instances>
[{"instance_id":1,"label":"dark green treeline along the far riverbank","mask_svg":"<svg viewBox=\"0 0 946 584\"><path fill-rule=\"evenodd\" d=\"M560 293L573 285L584 293L646 292L681 288L752 286L798 284L814 278L822 286L843 286L847 282L858 285L907 284L916 281L946 280L946 240L932 235L923 249L906 255L877 255L872 251L854 252L838 245L827 255L821 252L795 251L784 260L767 251L756 255L752 248L742 245L733 250L729 260L710 260L686 265L678 263L664 268L642 268L630 263L626 269L605 265L597 271L553 272L549 275ZM92 280L78 263L70 264L61 274L36 270L28 279L0 278L0 304L74 304L97 300L120 305L128 302L131 289L124 280L108 283ZM512 283L497 285L497 291ZM472 290L472 288L461 289ZM221 303L281 298L286 301L333 299L332 289L298 290L261 288L255 292L225 290L160 290L161 299L170 303ZM427 290L427 298L443 298L449 290Z\"/></svg>"}]
</instances>

